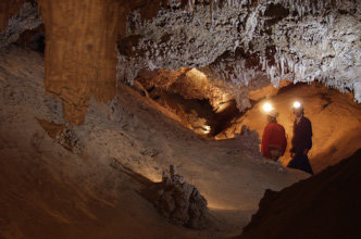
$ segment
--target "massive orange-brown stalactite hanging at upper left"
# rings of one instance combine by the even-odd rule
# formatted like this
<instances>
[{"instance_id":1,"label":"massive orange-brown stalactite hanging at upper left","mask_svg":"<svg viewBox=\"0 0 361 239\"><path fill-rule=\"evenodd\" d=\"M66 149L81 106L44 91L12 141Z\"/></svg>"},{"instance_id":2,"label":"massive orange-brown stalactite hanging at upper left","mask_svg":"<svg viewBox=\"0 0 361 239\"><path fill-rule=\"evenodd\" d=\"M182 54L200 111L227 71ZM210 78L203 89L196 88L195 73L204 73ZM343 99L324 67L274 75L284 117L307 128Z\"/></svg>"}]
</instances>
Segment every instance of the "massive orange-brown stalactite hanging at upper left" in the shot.
<instances>
[{"instance_id":1,"label":"massive orange-brown stalactite hanging at upper left","mask_svg":"<svg viewBox=\"0 0 361 239\"><path fill-rule=\"evenodd\" d=\"M71 125L83 124L91 97L107 102L115 95L120 5L111 0L38 2L47 34L46 90L63 100Z\"/></svg>"}]
</instances>

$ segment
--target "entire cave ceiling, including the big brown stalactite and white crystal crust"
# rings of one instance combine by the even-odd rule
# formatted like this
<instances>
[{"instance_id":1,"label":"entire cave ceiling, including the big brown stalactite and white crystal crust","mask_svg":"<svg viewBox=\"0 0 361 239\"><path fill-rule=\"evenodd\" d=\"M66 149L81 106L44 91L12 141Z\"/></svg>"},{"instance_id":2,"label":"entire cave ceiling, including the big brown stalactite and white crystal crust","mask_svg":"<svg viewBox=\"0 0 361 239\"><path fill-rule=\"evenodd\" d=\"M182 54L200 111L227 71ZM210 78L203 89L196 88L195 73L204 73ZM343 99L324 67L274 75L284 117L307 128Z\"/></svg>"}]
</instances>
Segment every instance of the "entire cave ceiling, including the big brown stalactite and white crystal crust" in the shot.
<instances>
[{"instance_id":1,"label":"entire cave ceiling, including the big brown stalactite and white crystal crust","mask_svg":"<svg viewBox=\"0 0 361 239\"><path fill-rule=\"evenodd\" d=\"M63 100L72 125L84 122L91 97L110 101L116 81L133 85L147 71L178 71L185 79L197 68L212 85L207 89L221 92L210 101L226 96L239 110L250 106L250 91L285 79L318 80L361 102L357 0L38 0L0 7L0 47L45 24L46 90ZM167 77L158 78L154 85Z\"/></svg>"}]
</instances>

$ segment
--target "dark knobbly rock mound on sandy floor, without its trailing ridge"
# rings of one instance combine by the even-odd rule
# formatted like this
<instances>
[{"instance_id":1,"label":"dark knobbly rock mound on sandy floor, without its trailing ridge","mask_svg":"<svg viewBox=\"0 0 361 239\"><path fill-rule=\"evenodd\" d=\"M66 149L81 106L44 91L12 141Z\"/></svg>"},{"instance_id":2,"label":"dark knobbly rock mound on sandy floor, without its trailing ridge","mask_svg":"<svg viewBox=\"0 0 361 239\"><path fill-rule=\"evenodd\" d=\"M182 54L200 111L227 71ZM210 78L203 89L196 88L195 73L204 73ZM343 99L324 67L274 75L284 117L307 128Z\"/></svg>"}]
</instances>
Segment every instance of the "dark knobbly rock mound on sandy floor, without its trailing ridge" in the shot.
<instances>
[{"instance_id":1,"label":"dark knobbly rock mound on sandy floor, without its trailing ridge","mask_svg":"<svg viewBox=\"0 0 361 239\"><path fill-rule=\"evenodd\" d=\"M162 216L175 225L201 229L207 223L207 200L199 190L177 175L176 167L163 172L163 179L157 187L154 205Z\"/></svg>"}]
</instances>

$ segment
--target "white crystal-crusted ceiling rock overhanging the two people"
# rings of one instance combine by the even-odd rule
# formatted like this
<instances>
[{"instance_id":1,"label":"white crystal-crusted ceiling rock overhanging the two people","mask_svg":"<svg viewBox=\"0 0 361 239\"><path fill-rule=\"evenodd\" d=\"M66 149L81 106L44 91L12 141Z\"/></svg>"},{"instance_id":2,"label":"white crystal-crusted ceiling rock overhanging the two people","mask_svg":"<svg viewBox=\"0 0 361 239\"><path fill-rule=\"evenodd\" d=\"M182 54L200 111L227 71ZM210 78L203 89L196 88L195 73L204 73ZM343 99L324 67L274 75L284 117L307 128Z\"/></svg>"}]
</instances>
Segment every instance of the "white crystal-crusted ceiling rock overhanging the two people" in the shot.
<instances>
[{"instance_id":1,"label":"white crystal-crusted ceiling rock overhanging the two people","mask_svg":"<svg viewBox=\"0 0 361 239\"><path fill-rule=\"evenodd\" d=\"M361 100L359 2L216 1L213 12L172 2L152 21L129 15L119 80L132 84L142 68L198 67L232 86L239 110L250 106L250 90L284 79L324 81Z\"/></svg>"}]
</instances>

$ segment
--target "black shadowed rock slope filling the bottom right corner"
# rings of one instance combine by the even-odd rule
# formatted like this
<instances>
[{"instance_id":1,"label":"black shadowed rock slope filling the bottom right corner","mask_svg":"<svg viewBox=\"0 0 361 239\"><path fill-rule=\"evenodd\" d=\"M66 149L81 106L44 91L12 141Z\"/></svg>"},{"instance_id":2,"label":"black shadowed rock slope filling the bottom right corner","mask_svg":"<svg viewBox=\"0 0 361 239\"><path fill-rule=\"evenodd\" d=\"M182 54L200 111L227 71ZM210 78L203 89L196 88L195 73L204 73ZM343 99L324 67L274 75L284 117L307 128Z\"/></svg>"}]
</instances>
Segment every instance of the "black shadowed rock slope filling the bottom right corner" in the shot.
<instances>
[{"instance_id":1,"label":"black shadowed rock slope filling the bottom right corner","mask_svg":"<svg viewBox=\"0 0 361 239\"><path fill-rule=\"evenodd\" d=\"M266 190L239 239L360 238L361 149L279 192Z\"/></svg>"}]
</instances>

